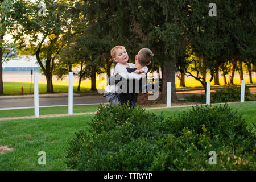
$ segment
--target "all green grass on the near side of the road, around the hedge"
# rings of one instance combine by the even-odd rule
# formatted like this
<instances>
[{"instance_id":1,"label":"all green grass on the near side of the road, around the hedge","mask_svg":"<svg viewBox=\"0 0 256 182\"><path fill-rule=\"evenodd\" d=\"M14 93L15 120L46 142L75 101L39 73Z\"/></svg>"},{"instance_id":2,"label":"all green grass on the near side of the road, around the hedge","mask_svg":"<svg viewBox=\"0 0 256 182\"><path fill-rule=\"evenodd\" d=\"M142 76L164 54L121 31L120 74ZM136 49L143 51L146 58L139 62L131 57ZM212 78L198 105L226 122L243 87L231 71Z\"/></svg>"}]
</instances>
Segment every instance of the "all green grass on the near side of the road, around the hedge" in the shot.
<instances>
[{"instance_id":1,"label":"all green grass on the near side of the road, around the hedge","mask_svg":"<svg viewBox=\"0 0 256 182\"><path fill-rule=\"evenodd\" d=\"M247 123L256 123L256 101L229 105L238 114L242 113ZM80 109L89 111L90 107L92 107L92 110L97 109L97 105L89 105L89 107L77 106L76 109L77 112ZM148 110L148 112L163 113L164 117L168 117L189 109L191 107L174 107ZM49 107L48 110L45 110L45 113L50 114L53 110L57 112L55 114L59 114L63 111L63 107ZM23 111L30 113L29 109ZM3 113L6 114L6 111L0 111L0 115ZM16 116L15 113L22 112L20 110L11 110L8 117ZM69 170L64 163L65 148L77 130L88 130L88 123L93 116L93 114L88 114L58 118L0 121L0 146L13 148L12 152L0 154L0 170ZM41 166L38 164L39 151L46 152L46 165Z\"/></svg>"}]
</instances>

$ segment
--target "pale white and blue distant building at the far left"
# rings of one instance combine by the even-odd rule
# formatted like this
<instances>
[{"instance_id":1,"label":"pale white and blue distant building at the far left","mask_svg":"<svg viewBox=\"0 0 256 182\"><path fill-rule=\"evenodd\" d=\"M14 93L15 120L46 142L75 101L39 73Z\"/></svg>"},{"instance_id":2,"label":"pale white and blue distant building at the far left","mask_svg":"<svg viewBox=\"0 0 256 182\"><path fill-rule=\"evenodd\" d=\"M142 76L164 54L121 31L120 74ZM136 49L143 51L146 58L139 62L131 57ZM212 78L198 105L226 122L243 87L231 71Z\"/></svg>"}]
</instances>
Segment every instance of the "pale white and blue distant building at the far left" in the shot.
<instances>
[{"instance_id":1,"label":"pale white and blue distant building at the far left","mask_svg":"<svg viewBox=\"0 0 256 182\"><path fill-rule=\"evenodd\" d=\"M35 56L17 56L2 64L3 72L38 71L39 65Z\"/></svg>"}]
</instances>

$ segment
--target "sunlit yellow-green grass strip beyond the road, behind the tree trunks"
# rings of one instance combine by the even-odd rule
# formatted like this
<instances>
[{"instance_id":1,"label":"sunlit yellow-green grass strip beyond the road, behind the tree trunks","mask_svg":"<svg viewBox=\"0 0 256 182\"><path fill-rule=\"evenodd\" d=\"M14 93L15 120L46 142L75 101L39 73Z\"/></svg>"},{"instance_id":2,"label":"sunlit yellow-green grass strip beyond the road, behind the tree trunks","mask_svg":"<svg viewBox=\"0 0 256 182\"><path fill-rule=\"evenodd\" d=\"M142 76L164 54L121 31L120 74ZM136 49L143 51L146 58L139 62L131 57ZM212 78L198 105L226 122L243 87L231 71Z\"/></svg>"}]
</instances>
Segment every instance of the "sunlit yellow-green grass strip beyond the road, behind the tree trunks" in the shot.
<instances>
[{"instance_id":1,"label":"sunlit yellow-green grass strip beyond the road, behind the tree trunks","mask_svg":"<svg viewBox=\"0 0 256 182\"><path fill-rule=\"evenodd\" d=\"M210 78L207 78L207 81ZM80 92L77 92L77 86L79 81L73 81L73 92L80 93L80 92L91 92L90 90L90 80L84 80L81 82ZM176 88L179 87L179 78L176 78ZM256 78L253 77L253 82L256 82ZM213 82L212 82L213 83ZM234 84L240 85L240 78L234 78ZM249 84L249 77L245 77L245 84ZM213 85L212 86L218 86ZM224 82L223 79L220 78L220 85L223 86ZM187 88L195 88L195 87L202 87L199 81L196 81L194 78L185 78L185 86ZM3 90L5 95L17 95L21 93L21 88L24 89L24 94L30 94L30 82L3 82ZM105 89L105 81L97 80L96 87ZM68 92L68 81L53 81L53 90L56 93L67 93ZM34 85L32 83L31 92L34 93ZM39 93L44 94L46 93L46 81L39 82Z\"/></svg>"}]
</instances>

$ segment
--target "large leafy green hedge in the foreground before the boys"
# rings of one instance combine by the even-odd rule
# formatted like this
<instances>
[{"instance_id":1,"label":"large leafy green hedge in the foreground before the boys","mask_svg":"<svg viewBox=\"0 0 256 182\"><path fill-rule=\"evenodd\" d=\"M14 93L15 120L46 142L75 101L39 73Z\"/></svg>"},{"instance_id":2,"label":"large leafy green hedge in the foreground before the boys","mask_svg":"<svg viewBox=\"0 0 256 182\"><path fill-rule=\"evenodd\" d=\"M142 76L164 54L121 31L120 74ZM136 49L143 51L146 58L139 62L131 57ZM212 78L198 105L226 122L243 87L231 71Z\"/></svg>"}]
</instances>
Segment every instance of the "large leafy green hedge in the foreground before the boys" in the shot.
<instances>
[{"instance_id":1,"label":"large leafy green hedge in the foreground before the boys","mask_svg":"<svg viewBox=\"0 0 256 182\"><path fill-rule=\"evenodd\" d=\"M255 170L255 127L228 105L196 106L164 119L141 107L100 106L90 131L69 142L76 170ZM208 163L209 151L217 164Z\"/></svg>"}]
</instances>

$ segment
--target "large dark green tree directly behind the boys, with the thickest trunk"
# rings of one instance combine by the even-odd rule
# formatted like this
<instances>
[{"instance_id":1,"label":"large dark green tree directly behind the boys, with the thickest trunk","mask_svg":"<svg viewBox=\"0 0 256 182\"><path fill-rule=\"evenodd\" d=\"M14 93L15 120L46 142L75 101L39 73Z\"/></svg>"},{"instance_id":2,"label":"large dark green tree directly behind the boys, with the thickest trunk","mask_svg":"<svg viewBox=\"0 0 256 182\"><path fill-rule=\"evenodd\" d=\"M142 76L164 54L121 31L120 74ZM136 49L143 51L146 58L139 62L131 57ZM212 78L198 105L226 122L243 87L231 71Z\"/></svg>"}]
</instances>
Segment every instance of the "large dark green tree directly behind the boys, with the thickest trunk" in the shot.
<instances>
[{"instance_id":1,"label":"large dark green tree directly behind the boys, with the thickest trunk","mask_svg":"<svg viewBox=\"0 0 256 182\"><path fill-rule=\"evenodd\" d=\"M157 56L152 60L153 67L150 66L150 69L158 68L155 65L160 63L162 73L166 73L162 74L163 100L166 97L167 81L171 81L174 85L172 87L172 100L176 100L176 55L174 53L177 49L174 44L179 44L181 30L184 28L181 26L182 28L179 30L180 26L174 21L168 24L168 20L171 20L175 13L169 15L168 11L164 11L163 14L162 10L165 4L160 1L150 1L150 3L148 1L84 1L82 5L88 20L88 30L92 30L90 33L94 35L94 38L97 38L98 42L96 43L100 45L97 52L100 53L99 56L102 57L102 60L111 60L110 49L117 44L126 47L130 59L135 57L140 48L150 48ZM172 9L176 10L175 4L172 5ZM173 28L176 28L174 30L176 31L175 37L169 32L173 31ZM170 42L172 38L178 40ZM93 39L93 41L96 40ZM110 64L106 63L106 65ZM107 66L107 68L109 67Z\"/></svg>"}]
</instances>

